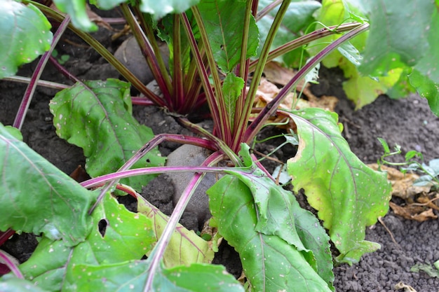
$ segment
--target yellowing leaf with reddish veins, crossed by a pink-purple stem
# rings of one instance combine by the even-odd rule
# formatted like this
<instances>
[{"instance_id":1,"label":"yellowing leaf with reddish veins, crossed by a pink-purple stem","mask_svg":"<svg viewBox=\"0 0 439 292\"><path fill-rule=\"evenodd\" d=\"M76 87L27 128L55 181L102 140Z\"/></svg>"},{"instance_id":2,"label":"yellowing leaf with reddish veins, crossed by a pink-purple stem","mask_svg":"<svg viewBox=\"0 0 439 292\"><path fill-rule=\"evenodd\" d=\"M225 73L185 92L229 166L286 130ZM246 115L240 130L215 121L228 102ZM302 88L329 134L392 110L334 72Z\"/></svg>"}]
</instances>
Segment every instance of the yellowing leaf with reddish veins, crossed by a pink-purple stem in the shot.
<instances>
[{"instance_id":1,"label":"yellowing leaf with reddish veins, crossed by a pink-purple stem","mask_svg":"<svg viewBox=\"0 0 439 292\"><path fill-rule=\"evenodd\" d=\"M137 211L151 220L155 238L158 240L168 223L168 216L144 200L143 197L137 197ZM214 256L208 242L196 235L194 231L187 230L178 224L166 248L163 263L166 267L190 265L191 263L211 263Z\"/></svg>"}]
</instances>

